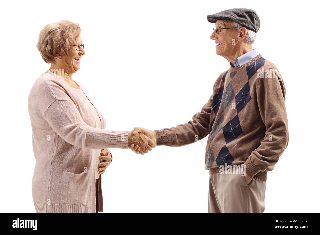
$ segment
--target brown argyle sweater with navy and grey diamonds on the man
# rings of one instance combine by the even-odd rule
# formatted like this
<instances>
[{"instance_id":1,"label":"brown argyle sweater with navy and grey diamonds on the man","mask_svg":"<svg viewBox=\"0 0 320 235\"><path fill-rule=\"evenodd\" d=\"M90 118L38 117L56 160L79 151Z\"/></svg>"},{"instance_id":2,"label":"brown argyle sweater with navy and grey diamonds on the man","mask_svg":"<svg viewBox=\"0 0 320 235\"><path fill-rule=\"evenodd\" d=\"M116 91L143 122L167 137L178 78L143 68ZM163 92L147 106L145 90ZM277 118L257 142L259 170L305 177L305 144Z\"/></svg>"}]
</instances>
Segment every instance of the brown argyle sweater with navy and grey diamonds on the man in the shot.
<instances>
[{"instance_id":1,"label":"brown argyle sweater with navy and grey diamonds on the man","mask_svg":"<svg viewBox=\"0 0 320 235\"><path fill-rule=\"evenodd\" d=\"M204 164L210 174L243 164L248 176L267 181L289 142L284 99L281 74L259 54L221 73L192 121L155 130L156 145L182 146L209 135Z\"/></svg>"}]
</instances>

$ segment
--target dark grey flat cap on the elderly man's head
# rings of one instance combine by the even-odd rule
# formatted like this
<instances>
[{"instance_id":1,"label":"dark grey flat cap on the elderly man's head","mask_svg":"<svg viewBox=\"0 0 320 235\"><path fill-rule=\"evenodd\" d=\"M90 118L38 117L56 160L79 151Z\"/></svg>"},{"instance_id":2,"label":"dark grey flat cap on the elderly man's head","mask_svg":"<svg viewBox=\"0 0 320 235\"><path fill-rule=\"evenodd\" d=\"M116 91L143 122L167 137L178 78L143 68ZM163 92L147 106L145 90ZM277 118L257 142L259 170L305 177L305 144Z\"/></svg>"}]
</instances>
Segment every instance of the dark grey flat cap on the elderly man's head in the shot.
<instances>
[{"instance_id":1,"label":"dark grey flat cap on the elderly man's head","mask_svg":"<svg viewBox=\"0 0 320 235\"><path fill-rule=\"evenodd\" d=\"M235 21L255 33L257 33L260 28L260 19L257 12L246 8L232 8L208 15L207 20L211 23L215 23L217 20Z\"/></svg>"}]
</instances>

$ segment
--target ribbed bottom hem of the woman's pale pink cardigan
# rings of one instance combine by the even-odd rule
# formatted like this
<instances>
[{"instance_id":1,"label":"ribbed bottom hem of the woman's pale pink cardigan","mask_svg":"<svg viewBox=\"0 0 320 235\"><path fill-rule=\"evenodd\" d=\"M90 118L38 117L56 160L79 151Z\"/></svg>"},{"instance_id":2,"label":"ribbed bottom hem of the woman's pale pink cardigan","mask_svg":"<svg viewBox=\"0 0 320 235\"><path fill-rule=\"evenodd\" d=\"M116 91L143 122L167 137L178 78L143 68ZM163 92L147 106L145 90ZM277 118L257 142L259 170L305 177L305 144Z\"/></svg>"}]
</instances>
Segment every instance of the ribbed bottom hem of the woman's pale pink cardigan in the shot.
<instances>
[{"instance_id":1,"label":"ribbed bottom hem of the woman's pale pink cardigan","mask_svg":"<svg viewBox=\"0 0 320 235\"><path fill-rule=\"evenodd\" d=\"M84 204L50 204L34 202L36 213L95 213L91 202Z\"/></svg>"}]
</instances>

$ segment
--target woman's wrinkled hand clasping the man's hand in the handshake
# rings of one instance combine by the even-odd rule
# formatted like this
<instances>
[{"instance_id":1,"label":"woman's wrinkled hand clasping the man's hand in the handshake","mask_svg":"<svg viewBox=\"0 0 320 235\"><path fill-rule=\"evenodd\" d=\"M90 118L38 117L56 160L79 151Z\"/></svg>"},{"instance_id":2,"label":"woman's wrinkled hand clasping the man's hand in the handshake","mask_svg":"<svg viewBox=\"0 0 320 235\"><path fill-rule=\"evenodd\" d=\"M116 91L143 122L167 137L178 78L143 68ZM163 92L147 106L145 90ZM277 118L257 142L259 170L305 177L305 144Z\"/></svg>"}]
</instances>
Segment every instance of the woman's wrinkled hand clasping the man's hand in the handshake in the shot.
<instances>
[{"instance_id":1,"label":"woman's wrinkled hand clasping the man's hand in the handshake","mask_svg":"<svg viewBox=\"0 0 320 235\"><path fill-rule=\"evenodd\" d=\"M151 138L142 133L133 134L133 130L129 131L128 139L128 148L142 155L156 147L156 143Z\"/></svg>"}]
</instances>

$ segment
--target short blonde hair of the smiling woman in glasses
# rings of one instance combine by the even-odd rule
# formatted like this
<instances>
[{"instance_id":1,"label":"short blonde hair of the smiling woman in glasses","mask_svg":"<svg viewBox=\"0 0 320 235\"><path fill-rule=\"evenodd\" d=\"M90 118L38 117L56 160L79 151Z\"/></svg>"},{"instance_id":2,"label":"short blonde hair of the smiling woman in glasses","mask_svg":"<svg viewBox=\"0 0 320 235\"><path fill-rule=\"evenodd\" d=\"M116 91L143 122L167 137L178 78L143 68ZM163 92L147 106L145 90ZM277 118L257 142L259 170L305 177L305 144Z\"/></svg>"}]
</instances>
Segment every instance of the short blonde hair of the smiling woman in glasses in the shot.
<instances>
[{"instance_id":1,"label":"short blonde hair of the smiling woman in glasses","mask_svg":"<svg viewBox=\"0 0 320 235\"><path fill-rule=\"evenodd\" d=\"M39 34L36 44L41 57L46 63L56 63L56 54L68 55L69 45L74 45L76 38L80 36L81 27L69 20L61 20L44 26Z\"/></svg>"}]
</instances>

